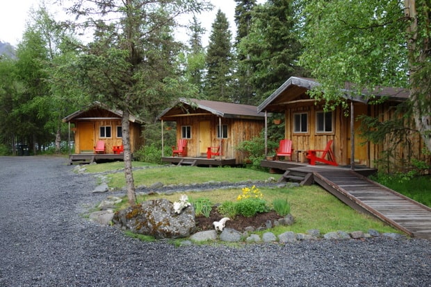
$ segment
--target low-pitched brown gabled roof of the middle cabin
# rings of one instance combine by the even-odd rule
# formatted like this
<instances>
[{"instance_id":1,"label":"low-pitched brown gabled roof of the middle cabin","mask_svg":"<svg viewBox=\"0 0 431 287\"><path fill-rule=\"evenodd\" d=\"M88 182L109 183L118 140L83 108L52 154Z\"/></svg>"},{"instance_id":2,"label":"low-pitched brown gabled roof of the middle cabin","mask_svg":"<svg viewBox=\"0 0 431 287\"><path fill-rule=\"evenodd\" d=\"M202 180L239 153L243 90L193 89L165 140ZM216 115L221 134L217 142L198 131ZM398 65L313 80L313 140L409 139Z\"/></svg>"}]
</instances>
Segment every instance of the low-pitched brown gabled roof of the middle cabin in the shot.
<instances>
[{"instance_id":1,"label":"low-pitched brown gabled roof of the middle cabin","mask_svg":"<svg viewBox=\"0 0 431 287\"><path fill-rule=\"evenodd\" d=\"M265 114L257 112L255 105L241 105L219 101L197 100L195 98L179 98L172 107L165 109L158 119L170 121L177 116L213 114L223 118L263 120Z\"/></svg>"}]
</instances>

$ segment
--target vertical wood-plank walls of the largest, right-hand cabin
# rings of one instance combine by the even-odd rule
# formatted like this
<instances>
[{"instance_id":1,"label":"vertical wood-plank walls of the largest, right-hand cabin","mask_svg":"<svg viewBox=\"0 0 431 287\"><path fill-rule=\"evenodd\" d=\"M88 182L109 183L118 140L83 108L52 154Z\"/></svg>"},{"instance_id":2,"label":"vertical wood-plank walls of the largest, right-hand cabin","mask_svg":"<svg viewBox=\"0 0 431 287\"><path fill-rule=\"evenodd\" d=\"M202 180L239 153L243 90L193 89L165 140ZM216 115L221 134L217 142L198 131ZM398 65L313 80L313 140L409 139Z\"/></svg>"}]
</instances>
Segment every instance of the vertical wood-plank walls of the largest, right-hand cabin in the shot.
<instances>
[{"instance_id":1,"label":"vertical wood-plank walls of the largest, right-hand cabin","mask_svg":"<svg viewBox=\"0 0 431 287\"><path fill-rule=\"evenodd\" d=\"M393 146L393 139L388 136L384 143L371 143L367 141L359 132L360 122L357 121L357 116L360 114L368 114L377 116L379 121L387 121L396 116L396 103L382 103L379 105L365 105L363 103L355 103L355 164L364 165L371 168L380 168L377 159L382 159L382 151L388 150ZM332 150L334 151L336 162L339 165L348 165L351 163L351 132L350 132L350 116L345 116L340 107L334 110L333 132L318 133L316 132L316 111L323 110L323 105L314 105L301 103L286 107L285 110L285 138L292 140L293 154L295 150L318 149L323 150L327 141L334 140ZM309 129L304 133L293 132L293 116L295 113L307 113ZM350 114L350 111L349 111ZM406 125L411 125L414 128L414 122L411 120ZM389 158L391 165L398 170L403 169L403 164L410 162L412 157L421 159L425 162L430 162L429 155L423 155L421 152L425 147L423 139L417 132L412 134L406 133L405 141L398 145L393 152L394 157ZM304 153L300 153L300 161L304 161ZM386 172L390 172L387 170Z\"/></svg>"}]
</instances>

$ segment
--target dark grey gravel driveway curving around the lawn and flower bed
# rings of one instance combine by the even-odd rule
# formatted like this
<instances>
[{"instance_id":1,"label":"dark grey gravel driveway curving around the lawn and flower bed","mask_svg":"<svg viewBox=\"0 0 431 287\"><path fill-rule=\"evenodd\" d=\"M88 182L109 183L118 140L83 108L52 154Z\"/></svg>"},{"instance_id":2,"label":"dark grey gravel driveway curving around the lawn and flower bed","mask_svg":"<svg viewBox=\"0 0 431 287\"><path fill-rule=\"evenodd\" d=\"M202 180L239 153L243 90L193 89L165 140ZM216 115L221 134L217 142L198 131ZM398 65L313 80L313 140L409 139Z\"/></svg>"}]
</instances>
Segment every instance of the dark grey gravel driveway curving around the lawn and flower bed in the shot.
<instances>
[{"instance_id":1,"label":"dark grey gravel driveway curving around the lawn and flower bed","mask_svg":"<svg viewBox=\"0 0 431 287\"><path fill-rule=\"evenodd\" d=\"M143 243L80 214L106 197L55 157L0 157L0 286L431 286L431 241Z\"/></svg>"}]
</instances>

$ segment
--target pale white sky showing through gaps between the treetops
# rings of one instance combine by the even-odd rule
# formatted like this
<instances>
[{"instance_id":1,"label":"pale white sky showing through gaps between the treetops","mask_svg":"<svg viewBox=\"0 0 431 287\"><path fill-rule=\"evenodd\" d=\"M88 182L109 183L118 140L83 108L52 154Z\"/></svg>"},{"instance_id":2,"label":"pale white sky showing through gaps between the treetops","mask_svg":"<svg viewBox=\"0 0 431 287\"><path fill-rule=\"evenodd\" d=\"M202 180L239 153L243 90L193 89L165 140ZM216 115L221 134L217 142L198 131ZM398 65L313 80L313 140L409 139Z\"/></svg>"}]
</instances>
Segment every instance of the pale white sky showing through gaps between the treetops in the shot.
<instances>
[{"instance_id":1,"label":"pale white sky showing through gaps between the treetops","mask_svg":"<svg viewBox=\"0 0 431 287\"><path fill-rule=\"evenodd\" d=\"M54 18L61 15L61 8L50 4L53 0L45 0L47 7ZM26 28L26 23L29 22L29 11L31 8L38 9L38 0L1 0L0 3L0 40L2 42L9 42L13 46L17 46L18 42L22 39L22 34ZM232 31L232 40L234 40L236 26L234 22L234 13L236 3L234 0L211 0L215 8L211 12L202 13L199 18L201 25L206 29L206 35L202 37L202 44L207 45L209 35L211 33L211 24L215 19L215 14L218 9L225 13L229 20L229 26ZM263 3L259 0L258 3ZM187 23L187 21L186 21ZM188 37L184 35L181 41L186 41Z\"/></svg>"}]
</instances>

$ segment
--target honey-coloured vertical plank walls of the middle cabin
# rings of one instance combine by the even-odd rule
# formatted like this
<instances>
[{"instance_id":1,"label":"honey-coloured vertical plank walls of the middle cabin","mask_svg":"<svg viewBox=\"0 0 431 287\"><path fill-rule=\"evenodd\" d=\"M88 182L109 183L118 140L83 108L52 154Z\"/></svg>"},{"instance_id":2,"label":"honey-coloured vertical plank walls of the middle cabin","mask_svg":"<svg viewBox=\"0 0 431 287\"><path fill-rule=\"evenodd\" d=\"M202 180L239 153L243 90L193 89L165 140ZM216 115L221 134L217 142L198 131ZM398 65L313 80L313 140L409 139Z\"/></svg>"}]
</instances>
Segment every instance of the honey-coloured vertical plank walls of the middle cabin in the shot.
<instances>
[{"instance_id":1,"label":"honey-coloured vertical plank walls of the middle cabin","mask_svg":"<svg viewBox=\"0 0 431 287\"><path fill-rule=\"evenodd\" d=\"M202 125L201 122L208 121L209 125ZM177 140L181 139L181 127L188 125L191 128L191 138L187 142L188 157L206 157L208 146L218 146L220 139L217 137L217 126L219 117L213 115L193 115L181 116L176 119ZM244 155L236 150L239 143L259 136L264 127L264 121L247 119L225 119L221 118L221 124L227 125L227 138L222 139L222 157L235 158L236 164L244 163ZM206 130L200 127L209 126ZM204 146L202 146L202 142Z\"/></svg>"}]
</instances>

